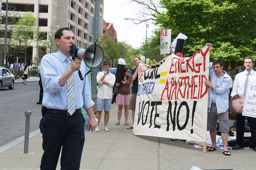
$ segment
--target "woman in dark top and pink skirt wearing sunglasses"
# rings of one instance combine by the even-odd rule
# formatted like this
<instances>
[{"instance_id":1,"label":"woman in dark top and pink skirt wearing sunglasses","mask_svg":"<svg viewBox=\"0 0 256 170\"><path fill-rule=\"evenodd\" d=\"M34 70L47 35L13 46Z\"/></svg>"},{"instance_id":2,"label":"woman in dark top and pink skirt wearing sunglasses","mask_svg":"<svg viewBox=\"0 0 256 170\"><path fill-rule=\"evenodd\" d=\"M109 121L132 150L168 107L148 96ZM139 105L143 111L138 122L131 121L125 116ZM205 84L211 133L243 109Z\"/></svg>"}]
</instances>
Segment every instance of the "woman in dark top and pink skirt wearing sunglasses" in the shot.
<instances>
[{"instance_id":1,"label":"woman in dark top and pink skirt wearing sunglasses","mask_svg":"<svg viewBox=\"0 0 256 170\"><path fill-rule=\"evenodd\" d=\"M128 124L128 116L129 116L129 103L131 98L131 82L133 82L132 76L130 75L130 69L128 67L124 67L123 69L123 79L121 83L116 82L116 86L118 88L118 93L116 96L116 104L118 105L117 111L117 123L115 125L120 124L120 119L122 115L122 109L124 107L124 117L125 117L125 126L129 126Z\"/></svg>"}]
</instances>

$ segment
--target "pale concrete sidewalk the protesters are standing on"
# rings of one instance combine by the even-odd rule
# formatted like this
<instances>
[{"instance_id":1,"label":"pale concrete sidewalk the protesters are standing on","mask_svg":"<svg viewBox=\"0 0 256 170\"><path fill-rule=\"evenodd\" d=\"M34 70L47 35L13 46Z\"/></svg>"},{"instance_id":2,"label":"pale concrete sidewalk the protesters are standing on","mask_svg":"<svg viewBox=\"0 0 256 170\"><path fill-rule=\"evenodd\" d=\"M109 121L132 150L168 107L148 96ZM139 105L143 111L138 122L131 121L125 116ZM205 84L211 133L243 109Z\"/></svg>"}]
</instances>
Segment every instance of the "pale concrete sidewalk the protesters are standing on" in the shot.
<instances>
[{"instance_id":1,"label":"pale concrete sidewalk the protesters are standing on","mask_svg":"<svg viewBox=\"0 0 256 170\"><path fill-rule=\"evenodd\" d=\"M38 80L38 77L30 77L28 83ZM18 82L22 83L22 80ZM256 152L249 147L230 151L231 156L224 156L222 150L203 153L203 149L181 140L135 136L132 130L126 129L128 126L124 126L124 114L120 125L115 125L117 109L116 104L112 104L109 132L103 131L103 112L100 132L85 132L80 169L190 169L192 166L200 169L256 169ZM129 124L132 124L131 111ZM250 133L245 133L245 136L250 136ZM40 169L41 145L39 129L30 133L28 154L23 154L24 136L3 145L0 147L0 170ZM60 169L59 163L57 169Z\"/></svg>"}]
</instances>

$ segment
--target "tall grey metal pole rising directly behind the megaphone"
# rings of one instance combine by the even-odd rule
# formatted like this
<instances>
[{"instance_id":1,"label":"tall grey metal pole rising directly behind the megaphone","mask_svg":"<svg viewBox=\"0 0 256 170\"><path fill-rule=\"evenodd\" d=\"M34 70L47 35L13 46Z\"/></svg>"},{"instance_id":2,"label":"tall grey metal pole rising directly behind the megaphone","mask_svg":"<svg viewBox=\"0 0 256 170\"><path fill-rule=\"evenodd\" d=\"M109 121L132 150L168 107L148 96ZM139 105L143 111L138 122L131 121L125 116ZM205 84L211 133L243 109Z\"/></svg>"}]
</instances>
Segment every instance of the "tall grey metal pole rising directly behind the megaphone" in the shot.
<instances>
[{"instance_id":1,"label":"tall grey metal pole rising directly behind the megaphone","mask_svg":"<svg viewBox=\"0 0 256 170\"><path fill-rule=\"evenodd\" d=\"M99 39L99 9L100 9L100 0L95 0L95 11L94 11L94 26L93 26L93 42L98 44ZM95 103L93 107L94 113L97 112L97 68L92 69L92 100Z\"/></svg>"}]
</instances>

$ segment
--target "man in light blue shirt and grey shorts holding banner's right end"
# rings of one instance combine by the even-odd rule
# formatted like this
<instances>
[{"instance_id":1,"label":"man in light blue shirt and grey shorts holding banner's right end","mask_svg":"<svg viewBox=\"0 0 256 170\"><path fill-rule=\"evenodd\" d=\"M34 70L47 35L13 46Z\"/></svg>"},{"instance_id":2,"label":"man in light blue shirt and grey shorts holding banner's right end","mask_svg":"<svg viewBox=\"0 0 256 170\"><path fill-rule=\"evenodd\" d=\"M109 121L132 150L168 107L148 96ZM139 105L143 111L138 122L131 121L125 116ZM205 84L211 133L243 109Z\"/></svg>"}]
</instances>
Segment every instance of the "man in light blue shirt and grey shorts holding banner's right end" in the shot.
<instances>
[{"instance_id":1,"label":"man in light blue shirt and grey shorts holding banner's right end","mask_svg":"<svg viewBox=\"0 0 256 170\"><path fill-rule=\"evenodd\" d=\"M211 43L207 43L209 47ZM230 156L231 154L227 150L228 142L228 97L229 89L232 87L232 79L223 70L223 62L221 60L215 60L209 64L209 76L210 81L205 80L205 85L209 87L208 91L208 116L207 116L207 131L210 131L210 138L212 145L208 151L216 151L216 127L217 119L219 120L221 132L221 138L223 141L223 154Z\"/></svg>"}]
</instances>

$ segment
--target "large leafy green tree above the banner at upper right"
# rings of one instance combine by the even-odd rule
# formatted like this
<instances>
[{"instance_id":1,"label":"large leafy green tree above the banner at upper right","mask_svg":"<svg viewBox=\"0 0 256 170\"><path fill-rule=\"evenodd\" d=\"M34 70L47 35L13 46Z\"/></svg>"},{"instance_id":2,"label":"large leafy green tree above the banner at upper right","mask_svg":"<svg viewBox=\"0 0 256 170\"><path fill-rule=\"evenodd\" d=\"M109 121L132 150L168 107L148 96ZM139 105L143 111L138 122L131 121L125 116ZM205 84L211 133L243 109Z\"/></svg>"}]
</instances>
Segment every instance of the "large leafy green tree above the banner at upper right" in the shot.
<instances>
[{"instance_id":1,"label":"large leafy green tree above the banner at upper right","mask_svg":"<svg viewBox=\"0 0 256 170\"><path fill-rule=\"evenodd\" d=\"M166 11L154 14L155 24L159 30L172 29L172 40L179 33L188 37L184 57L194 55L211 42L210 60L223 60L225 70L243 65L246 56L256 58L256 0L161 0L160 3ZM156 31L148 44L142 45L141 53L159 58L159 41Z\"/></svg>"}]
</instances>

